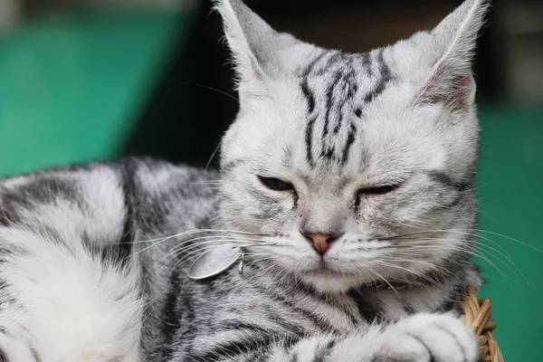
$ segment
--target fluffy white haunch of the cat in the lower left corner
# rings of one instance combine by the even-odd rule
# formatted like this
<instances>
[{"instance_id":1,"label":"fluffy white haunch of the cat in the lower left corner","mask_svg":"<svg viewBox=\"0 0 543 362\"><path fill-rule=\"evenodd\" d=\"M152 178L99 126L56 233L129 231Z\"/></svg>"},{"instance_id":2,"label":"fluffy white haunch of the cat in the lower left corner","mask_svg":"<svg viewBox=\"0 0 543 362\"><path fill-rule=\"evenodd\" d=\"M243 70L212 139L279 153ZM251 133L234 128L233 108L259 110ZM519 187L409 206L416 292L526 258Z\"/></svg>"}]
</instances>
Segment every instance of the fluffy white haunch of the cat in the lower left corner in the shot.
<instances>
[{"instance_id":1,"label":"fluffy white haunch of the cat in the lower left corner","mask_svg":"<svg viewBox=\"0 0 543 362\"><path fill-rule=\"evenodd\" d=\"M138 272L80 240L0 227L0 361L138 361Z\"/></svg>"}]
</instances>

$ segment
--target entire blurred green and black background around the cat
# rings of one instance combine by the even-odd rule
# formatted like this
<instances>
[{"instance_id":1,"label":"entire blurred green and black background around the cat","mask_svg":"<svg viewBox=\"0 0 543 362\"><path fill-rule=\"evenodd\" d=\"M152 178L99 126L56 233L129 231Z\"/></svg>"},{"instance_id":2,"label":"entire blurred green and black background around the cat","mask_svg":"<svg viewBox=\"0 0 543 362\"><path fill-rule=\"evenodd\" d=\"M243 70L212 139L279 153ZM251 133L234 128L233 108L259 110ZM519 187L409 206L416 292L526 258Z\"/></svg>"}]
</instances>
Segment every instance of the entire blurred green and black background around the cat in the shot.
<instances>
[{"instance_id":1,"label":"entire blurred green and black background around the cat","mask_svg":"<svg viewBox=\"0 0 543 362\"><path fill-rule=\"evenodd\" d=\"M460 2L247 3L281 30L357 52L433 26ZM489 24L475 64L474 260L506 359L542 361L543 6L497 0ZM221 36L203 0L0 3L0 176L126 155L205 166L237 110Z\"/></svg>"}]
</instances>

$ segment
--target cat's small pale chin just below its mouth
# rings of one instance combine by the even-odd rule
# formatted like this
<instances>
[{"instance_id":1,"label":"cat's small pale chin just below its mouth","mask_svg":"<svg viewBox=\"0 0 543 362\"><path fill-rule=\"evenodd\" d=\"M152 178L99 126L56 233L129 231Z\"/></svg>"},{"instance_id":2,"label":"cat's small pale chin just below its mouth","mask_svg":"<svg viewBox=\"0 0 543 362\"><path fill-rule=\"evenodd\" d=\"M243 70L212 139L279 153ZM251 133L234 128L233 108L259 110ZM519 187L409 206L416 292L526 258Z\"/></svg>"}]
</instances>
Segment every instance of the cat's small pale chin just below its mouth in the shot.
<instances>
[{"instance_id":1,"label":"cat's small pale chin just below its mouth","mask_svg":"<svg viewBox=\"0 0 543 362\"><path fill-rule=\"evenodd\" d=\"M305 271L300 273L299 278L323 293L345 292L365 282L358 274L331 270Z\"/></svg>"}]
</instances>

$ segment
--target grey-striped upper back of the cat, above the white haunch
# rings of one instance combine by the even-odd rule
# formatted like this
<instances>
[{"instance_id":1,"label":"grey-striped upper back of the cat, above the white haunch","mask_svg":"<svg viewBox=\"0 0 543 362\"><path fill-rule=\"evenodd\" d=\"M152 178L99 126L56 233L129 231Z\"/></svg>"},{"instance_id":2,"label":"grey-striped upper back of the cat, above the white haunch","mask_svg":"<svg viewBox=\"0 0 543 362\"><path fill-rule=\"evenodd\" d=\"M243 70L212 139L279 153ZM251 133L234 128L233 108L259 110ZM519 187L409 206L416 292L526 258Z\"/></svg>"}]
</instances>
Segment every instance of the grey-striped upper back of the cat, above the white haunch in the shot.
<instances>
[{"instance_id":1,"label":"grey-striped upper back of the cat, above the white haunch","mask_svg":"<svg viewBox=\"0 0 543 362\"><path fill-rule=\"evenodd\" d=\"M0 180L0 225L75 228L89 243L128 242L138 224L146 232L164 226L165 217L183 224L208 211L216 178L214 171L150 158L9 177Z\"/></svg>"}]
</instances>

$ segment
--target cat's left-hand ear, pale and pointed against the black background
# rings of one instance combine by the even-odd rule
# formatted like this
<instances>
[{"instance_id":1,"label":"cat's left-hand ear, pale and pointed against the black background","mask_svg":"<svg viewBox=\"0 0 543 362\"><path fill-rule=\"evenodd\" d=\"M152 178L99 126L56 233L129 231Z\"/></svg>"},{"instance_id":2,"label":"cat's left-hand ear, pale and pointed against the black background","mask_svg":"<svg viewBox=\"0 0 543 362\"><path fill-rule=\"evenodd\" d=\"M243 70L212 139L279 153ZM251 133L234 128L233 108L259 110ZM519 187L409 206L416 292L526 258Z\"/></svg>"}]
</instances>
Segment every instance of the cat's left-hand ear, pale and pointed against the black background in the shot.
<instances>
[{"instance_id":1,"label":"cat's left-hand ear, pale and pointed against the black background","mask_svg":"<svg viewBox=\"0 0 543 362\"><path fill-rule=\"evenodd\" d=\"M214 5L223 17L224 34L239 83L259 81L277 71L277 54L296 40L275 32L242 0L214 0Z\"/></svg>"}]
</instances>

